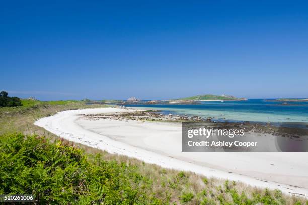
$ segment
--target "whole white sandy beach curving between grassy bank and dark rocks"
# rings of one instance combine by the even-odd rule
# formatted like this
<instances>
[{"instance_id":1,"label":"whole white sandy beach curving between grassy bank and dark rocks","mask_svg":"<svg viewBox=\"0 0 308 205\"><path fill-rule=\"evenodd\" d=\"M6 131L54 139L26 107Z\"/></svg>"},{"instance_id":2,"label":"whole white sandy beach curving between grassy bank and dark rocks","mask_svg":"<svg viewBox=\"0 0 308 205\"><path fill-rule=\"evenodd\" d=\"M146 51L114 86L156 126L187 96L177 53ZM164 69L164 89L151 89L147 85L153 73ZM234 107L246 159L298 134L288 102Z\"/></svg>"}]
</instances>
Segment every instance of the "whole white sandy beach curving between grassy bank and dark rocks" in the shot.
<instances>
[{"instance_id":1,"label":"whole white sandy beach curving between grassy bank and dark rocks","mask_svg":"<svg viewBox=\"0 0 308 205\"><path fill-rule=\"evenodd\" d=\"M306 152L181 152L179 123L87 120L80 116L134 111L119 108L63 111L35 124L70 141L109 153L308 197Z\"/></svg>"}]
</instances>

